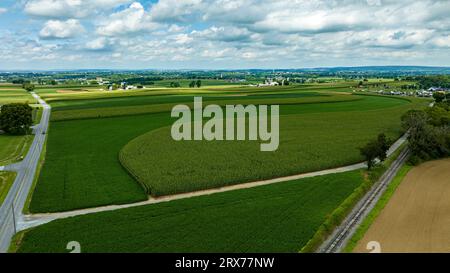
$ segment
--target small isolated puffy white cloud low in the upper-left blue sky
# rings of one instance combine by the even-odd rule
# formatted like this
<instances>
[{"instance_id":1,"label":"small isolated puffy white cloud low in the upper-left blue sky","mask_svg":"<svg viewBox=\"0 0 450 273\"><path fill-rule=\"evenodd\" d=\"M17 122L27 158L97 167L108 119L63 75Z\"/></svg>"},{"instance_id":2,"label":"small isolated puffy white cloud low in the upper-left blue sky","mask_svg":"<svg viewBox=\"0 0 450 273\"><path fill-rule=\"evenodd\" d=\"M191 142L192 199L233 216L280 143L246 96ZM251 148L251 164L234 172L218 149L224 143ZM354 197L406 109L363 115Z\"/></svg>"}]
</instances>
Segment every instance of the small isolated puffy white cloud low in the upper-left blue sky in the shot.
<instances>
[{"instance_id":1,"label":"small isolated puffy white cloud low in the upper-left blue sky","mask_svg":"<svg viewBox=\"0 0 450 273\"><path fill-rule=\"evenodd\" d=\"M39 32L39 36L45 39L65 39L72 38L83 31L83 26L76 19L49 20Z\"/></svg>"}]
</instances>

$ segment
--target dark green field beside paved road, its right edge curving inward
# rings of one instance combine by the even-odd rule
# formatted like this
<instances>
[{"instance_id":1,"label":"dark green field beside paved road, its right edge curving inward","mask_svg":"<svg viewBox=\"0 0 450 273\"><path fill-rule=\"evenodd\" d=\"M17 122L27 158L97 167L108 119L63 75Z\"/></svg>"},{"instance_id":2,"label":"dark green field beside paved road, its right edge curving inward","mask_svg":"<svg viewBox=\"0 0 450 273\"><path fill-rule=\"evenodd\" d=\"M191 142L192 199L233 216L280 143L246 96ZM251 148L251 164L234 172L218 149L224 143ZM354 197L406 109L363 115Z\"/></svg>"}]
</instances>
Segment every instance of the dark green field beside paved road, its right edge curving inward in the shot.
<instances>
[{"instance_id":1,"label":"dark green field beside paved road, its right edge curving inward","mask_svg":"<svg viewBox=\"0 0 450 273\"><path fill-rule=\"evenodd\" d=\"M169 122L160 114L52 123L30 211L146 200L141 186L121 167L118 151L130 139Z\"/></svg>"}]
</instances>

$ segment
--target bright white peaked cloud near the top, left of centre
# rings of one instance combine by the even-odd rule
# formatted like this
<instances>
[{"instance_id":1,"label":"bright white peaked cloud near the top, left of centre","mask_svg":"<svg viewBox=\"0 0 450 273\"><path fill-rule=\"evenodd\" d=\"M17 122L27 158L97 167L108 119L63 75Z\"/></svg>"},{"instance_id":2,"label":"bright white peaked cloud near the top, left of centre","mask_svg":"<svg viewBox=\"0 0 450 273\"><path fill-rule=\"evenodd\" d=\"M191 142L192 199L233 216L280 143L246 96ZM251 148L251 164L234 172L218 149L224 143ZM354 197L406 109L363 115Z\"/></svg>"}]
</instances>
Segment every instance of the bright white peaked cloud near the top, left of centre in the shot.
<instances>
[{"instance_id":1,"label":"bright white peaked cloud near the top, left of centre","mask_svg":"<svg viewBox=\"0 0 450 273\"><path fill-rule=\"evenodd\" d=\"M151 21L149 14L139 2L127 9L112 14L97 27L97 33L104 36L120 36L145 33L158 29L159 24Z\"/></svg>"}]
</instances>

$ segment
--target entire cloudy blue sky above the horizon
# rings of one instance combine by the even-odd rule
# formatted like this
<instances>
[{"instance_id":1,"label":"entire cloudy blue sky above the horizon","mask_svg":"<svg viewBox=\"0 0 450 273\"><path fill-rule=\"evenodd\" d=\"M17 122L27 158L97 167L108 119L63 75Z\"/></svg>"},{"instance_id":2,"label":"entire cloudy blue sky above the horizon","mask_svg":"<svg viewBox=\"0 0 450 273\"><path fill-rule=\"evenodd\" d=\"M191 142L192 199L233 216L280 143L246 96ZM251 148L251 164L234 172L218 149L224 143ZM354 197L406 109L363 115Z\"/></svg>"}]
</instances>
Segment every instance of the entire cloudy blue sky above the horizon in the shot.
<instances>
[{"instance_id":1,"label":"entire cloudy blue sky above the horizon","mask_svg":"<svg viewBox=\"0 0 450 273\"><path fill-rule=\"evenodd\" d=\"M1 0L0 70L450 66L449 0Z\"/></svg>"}]
</instances>

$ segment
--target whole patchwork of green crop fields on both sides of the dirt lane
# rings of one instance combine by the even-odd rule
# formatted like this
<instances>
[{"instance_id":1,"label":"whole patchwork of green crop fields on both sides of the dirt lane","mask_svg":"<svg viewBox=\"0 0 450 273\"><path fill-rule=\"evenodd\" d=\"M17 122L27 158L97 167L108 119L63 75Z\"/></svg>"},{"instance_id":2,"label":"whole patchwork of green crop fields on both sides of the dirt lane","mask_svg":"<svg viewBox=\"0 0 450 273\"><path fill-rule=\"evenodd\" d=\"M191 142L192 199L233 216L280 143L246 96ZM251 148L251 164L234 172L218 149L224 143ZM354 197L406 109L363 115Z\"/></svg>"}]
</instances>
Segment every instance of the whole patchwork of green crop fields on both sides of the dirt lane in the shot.
<instances>
[{"instance_id":1,"label":"whole patchwork of green crop fields on both sides of the dirt lane","mask_svg":"<svg viewBox=\"0 0 450 273\"><path fill-rule=\"evenodd\" d=\"M353 84L37 89L52 115L45 157L25 211L83 214L110 205L143 205L26 229L16 235L11 251L65 252L69 237L84 252L298 252L317 244L323 230L332 228L373 183L366 171L144 204L362 162L360 147L380 132L399 138L404 133L400 117L428 104L414 97L355 92ZM261 153L254 141L172 140L171 109L191 107L196 96L204 106L280 105L280 148ZM190 240L181 243L186 234Z\"/></svg>"}]
</instances>

